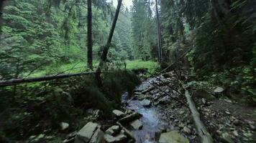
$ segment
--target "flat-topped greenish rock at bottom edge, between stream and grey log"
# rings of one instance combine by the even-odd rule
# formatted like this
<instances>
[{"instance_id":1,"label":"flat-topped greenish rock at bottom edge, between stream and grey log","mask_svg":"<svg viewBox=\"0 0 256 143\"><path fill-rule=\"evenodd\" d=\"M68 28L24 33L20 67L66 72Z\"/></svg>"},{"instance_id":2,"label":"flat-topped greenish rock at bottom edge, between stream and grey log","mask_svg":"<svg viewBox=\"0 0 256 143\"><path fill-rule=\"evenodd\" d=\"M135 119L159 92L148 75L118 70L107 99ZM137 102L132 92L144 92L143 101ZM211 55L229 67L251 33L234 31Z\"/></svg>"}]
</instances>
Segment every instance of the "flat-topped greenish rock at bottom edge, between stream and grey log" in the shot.
<instances>
[{"instance_id":1,"label":"flat-topped greenish rock at bottom edge, between stream and grey log","mask_svg":"<svg viewBox=\"0 0 256 143\"><path fill-rule=\"evenodd\" d=\"M179 134L177 131L166 132L160 135L160 143L189 143L186 137Z\"/></svg>"}]
</instances>

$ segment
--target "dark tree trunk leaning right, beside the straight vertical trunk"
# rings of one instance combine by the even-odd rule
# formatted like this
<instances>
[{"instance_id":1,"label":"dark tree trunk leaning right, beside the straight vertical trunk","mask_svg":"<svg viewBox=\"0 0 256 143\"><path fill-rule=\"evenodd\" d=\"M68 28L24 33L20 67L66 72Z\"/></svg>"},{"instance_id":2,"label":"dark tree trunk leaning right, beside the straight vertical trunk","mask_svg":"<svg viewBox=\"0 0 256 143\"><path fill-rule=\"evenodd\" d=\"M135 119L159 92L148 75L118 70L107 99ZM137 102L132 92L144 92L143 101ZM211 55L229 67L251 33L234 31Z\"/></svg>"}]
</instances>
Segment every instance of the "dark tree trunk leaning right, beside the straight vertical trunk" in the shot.
<instances>
[{"instance_id":1,"label":"dark tree trunk leaning right, beside the straight vertical trunk","mask_svg":"<svg viewBox=\"0 0 256 143\"><path fill-rule=\"evenodd\" d=\"M101 69L106 64L106 58L107 58L107 55L108 55L108 52L109 52L109 47L111 45L111 41L112 41L112 38L113 38L113 35L114 35L114 29L116 28L116 21L117 21L118 16L119 16L119 11L120 11L121 5L122 5L122 0L119 0L118 4L117 4L117 7L116 7L116 12L114 14L114 19L113 19L113 22L112 22L112 25L111 25L111 29L110 29L110 32L109 32L109 38L108 38L108 41L106 42L106 45L104 46L103 53L101 54L101 59L99 61L99 66L96 70L96 78L98 79L100 87L102 87L101 77L100 77Z\"/></svg>"}]
</instances>

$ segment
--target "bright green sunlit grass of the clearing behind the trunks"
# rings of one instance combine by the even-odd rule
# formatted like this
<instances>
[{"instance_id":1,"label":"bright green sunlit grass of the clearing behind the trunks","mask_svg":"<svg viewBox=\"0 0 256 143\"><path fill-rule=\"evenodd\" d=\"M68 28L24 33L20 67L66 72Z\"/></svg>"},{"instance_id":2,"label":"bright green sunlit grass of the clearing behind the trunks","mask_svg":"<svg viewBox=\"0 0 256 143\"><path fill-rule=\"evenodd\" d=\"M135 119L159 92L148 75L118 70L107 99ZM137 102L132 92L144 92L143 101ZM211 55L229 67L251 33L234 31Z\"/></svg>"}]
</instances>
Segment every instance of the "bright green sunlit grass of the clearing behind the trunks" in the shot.
<instances>
[{"instance_id":1,"label":"bright green sunlit grass of the clearing behind the trunks","mask_svg":"<svg viewBox=\"0 0 256 143\"><path fill-rule=\"evenodd\" d=\"M153 73L155 69L157 69L157 62L155 61L141 61L141 60L134 60L134 61L126 61L127 62L127 69L148 69L150 73ZM93 63L96 67L98 66L99 61ZM32 74L26 73L24 77L41 77L50 74L69 74L69 73L80 73L82 71L88 70L86 62L78 61L76 63L70 64L52 64L51 66L45 67L41 71L35 71Z\"/></svg>"}]
</instances>

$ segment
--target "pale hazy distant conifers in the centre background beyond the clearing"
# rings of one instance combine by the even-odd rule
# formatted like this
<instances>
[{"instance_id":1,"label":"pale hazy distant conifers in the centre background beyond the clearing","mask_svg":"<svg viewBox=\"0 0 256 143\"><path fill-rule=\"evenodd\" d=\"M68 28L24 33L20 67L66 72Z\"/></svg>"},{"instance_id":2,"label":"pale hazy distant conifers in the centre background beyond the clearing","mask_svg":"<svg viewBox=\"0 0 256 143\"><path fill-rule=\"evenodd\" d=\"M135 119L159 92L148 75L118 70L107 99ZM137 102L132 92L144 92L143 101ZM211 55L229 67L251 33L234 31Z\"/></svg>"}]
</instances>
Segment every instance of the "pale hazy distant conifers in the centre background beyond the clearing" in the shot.
<instances>
[{"instance_id":1,"label":"pale hazy distant conifers in the centre background beyond the clearing","mask_svg":"<svg viewBox=\"0 0 256 143\"><path fill-rule=\"evenodd\" d=\"M134 59L155 59L157 28L152 17L151 4L144 0L133 0L132 7L132 51Z\"/></svg>"}]
</instances>

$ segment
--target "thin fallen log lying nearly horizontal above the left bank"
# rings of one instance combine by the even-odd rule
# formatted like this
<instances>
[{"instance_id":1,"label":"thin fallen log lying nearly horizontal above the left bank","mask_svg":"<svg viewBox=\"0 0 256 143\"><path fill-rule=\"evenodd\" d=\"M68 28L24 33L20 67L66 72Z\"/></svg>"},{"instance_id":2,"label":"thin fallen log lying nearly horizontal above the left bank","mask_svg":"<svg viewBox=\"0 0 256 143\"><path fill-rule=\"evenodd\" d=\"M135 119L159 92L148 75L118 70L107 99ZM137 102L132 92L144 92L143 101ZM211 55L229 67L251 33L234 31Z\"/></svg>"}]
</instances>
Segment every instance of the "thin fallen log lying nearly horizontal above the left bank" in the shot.
<instances>
[{"instance_id":1,"label":"thin fallen log lying nearly horizontal above the left bank","mask_svg":"<svg viewBox=\"0 0 256 143\"><path fill-rule=\"evenodd\" d=\"M34 78L26 78L26 79L10 79L6 81L0 81L0 87L8 87L12 85L17 85L17 84L24 84L24 83L30 83L30 82L44 82L44 81L49 81L53 79L65 79L69 77L79 77L79 76L84 76L84 75L89 75L89 74L96 74L96 72L83 72L79 74L58 74L58 75L50 75L50 76L45 76L45 77L34 77Z\"/></svg>"}]
</instances>

